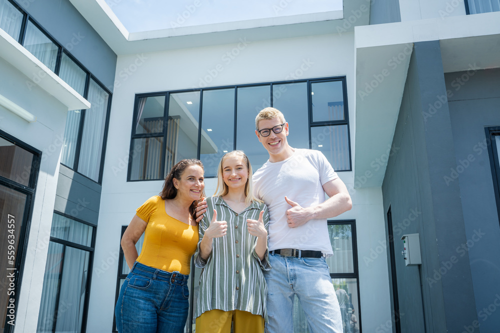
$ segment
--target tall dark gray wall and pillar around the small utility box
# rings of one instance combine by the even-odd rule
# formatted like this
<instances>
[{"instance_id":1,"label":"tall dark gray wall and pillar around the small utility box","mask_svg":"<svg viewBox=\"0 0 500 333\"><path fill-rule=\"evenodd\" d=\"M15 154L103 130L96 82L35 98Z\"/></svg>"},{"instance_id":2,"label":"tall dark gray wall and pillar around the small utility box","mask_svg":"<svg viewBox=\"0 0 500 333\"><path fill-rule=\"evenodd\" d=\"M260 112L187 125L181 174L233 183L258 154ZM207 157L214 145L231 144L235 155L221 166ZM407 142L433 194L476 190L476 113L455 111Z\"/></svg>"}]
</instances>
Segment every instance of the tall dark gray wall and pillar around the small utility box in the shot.
<instances>
[{"instance_id":1,"label":"tall dark gray wall and pillar around the small utility box","mask_svg":"<svg viewBox=\"0 0 500 333\"><path fill-rule=\"evenodd\" d=\"M439 112L426 116L429 105ZM477 316L468 256L456 252L466 243L460 191L442 179L455 155L438 41L414 44L392 143L382 195L392 212L401 330L424 332L425 317L427 332L462 332ZM420 235L421 272L400 255L400 236L410 233Z\"/></svg>"}]
</instances>

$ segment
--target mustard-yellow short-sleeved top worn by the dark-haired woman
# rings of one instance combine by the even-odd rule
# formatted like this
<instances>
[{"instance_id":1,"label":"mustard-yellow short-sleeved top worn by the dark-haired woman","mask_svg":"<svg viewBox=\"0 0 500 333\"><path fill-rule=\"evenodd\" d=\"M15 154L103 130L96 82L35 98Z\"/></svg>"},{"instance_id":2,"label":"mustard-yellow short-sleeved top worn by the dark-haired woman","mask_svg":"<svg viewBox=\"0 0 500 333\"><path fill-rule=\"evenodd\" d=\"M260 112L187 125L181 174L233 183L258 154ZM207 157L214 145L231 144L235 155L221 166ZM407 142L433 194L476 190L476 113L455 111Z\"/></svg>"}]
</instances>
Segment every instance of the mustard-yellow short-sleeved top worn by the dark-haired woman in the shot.
<instances>
[{"instance_id":1,"label":"mustard-yellow short-sleeved top worn by the dark-haired woman","mask_svg":"<svg viewBox=\"0 0 500 333\"><path fill-rule=\"evenodd\" d=\"M149 198L136 215L147 222L137 262L167 272L189 274L191 256L198 244L198 226L190 226L165 212L165 201Z\"/></svg>"}]
</instances>

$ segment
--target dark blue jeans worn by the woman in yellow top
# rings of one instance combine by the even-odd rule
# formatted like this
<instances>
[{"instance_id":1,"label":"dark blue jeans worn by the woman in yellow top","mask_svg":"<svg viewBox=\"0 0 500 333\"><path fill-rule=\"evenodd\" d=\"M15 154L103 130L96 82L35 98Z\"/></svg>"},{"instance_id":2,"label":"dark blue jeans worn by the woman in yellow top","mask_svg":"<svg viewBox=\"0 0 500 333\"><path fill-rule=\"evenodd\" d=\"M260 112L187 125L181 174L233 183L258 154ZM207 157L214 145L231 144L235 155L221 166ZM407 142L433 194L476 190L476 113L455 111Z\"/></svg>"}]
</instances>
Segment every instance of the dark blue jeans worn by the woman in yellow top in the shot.
<instances>
[{"instance_id":1,"label":"dark blue jeans worn by the woman in yellow top","mask_svg":"<svg viewBox=\"0 0 500 333\"><path fill-rule=\"evenodd\" d=\"M135 262L114 308L118 332L183 332L189 309L187 278Z\"/></svg>"}]
</instances>

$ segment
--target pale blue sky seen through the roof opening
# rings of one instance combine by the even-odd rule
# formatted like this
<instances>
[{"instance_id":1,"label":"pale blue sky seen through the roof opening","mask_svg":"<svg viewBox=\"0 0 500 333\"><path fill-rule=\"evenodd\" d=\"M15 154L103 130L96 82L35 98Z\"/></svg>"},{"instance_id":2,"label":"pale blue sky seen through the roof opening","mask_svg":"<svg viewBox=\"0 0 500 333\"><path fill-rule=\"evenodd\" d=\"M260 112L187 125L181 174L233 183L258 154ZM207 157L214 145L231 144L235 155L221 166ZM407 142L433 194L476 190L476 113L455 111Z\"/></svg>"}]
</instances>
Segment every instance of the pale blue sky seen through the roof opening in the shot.
<instances>
[{"instance_id":1,"label":"pale blue sky seen through the roof opening","mask_svg":"<svg viewBox=\"0 0 500 333\"><path fill-rule=\"evenodd\" d=\"M341 10L342 0L106 0L129 32Z\"/></svg>"}]
</instances>

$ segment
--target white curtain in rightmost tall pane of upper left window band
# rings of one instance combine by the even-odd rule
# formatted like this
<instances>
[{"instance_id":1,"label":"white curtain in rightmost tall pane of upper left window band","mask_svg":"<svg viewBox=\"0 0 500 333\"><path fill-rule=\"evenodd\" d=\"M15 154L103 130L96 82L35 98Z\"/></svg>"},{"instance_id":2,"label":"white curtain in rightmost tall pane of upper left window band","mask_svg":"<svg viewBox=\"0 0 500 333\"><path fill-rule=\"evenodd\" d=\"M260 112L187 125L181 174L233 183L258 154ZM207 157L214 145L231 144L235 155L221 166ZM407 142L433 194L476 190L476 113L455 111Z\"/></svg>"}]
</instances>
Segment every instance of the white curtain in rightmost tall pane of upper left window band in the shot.
<instances>
[{"instance_id":1,"label":"white curtain in rightmost tall pane of upper left window band","mask_svg":"<svg viewBox=\"0 0 500 333\"><path fill-rule=\"evenodd\" d=\"M99 179L108 99L109 94L90 80L87 100L91 106L85 110L83 120L78 172L94 181Z\"/></svg>"}]
</instances>

